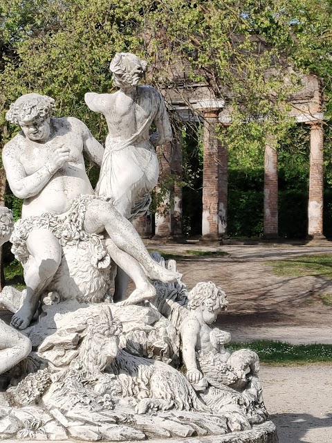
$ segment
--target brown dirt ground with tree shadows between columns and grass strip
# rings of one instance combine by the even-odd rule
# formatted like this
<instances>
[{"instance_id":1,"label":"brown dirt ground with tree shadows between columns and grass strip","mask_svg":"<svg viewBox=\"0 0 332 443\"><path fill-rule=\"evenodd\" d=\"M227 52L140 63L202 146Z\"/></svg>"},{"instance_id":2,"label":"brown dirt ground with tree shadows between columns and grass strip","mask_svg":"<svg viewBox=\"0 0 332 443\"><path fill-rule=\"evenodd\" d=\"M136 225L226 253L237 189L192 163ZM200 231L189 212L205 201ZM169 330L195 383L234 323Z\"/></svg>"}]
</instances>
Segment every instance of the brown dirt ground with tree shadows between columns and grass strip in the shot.
<instances>
[{"instance_id":1,"label":"brown dirt ground with tree shadows between columns and grass strip","mask_svg":"<svg viewBox=\"0 0 332 443\"><path fill-rule=\"evenodd\" d=\"M326 242L329 244L329 242ZM149 246L153 249L154 246ZM157 247L156 247L157 248ZM332 280L321 276L273 275L271 260L307 254L332 253L326 247L267 247L199 245L158 246L179 253L188 249L225 251L225 257L190 257L178 260L178 271L188 289L212 280L228 295L229 307L218 325L231 332L234 341L273 339L290 343L331 343L332 307L321 294L332 293Z\"/></svg>"}]
</instances>

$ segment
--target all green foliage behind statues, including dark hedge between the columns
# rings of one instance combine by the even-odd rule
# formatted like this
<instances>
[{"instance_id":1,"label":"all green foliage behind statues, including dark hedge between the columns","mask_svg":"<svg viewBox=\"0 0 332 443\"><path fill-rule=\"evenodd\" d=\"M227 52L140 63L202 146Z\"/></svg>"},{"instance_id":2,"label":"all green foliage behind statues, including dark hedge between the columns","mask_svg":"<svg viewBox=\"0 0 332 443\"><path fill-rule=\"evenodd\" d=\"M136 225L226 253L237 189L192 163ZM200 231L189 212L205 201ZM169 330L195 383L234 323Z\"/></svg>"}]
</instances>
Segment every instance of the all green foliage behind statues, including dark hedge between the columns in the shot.
<instances>
[{"instance_id":1,"label":"all green foliage behind statues, including dark hedge between the columns","mask_svg":"<svg viewBox=\"0 0 332 443\"><path fill-rule=\"evenodd\" d=\"M332 118L331 19L328 0L3 0L0 148L18 130L6 123L6 110L30 91L53 96L57 116L80 118L103 142L107 125L100 114L86 107L84 93L113 91L108 70L113 55L137 53L149 62L146 82L158 89L172 87L181 96L179 87L192 89L193 82L200 81L214 96L227 99L232 125L221 127L219 136L228 145L231 169L237 170L233 178L239 177L233 184L230 181L230 234L260 235L262 187L258 184L264 145L271 137L279 149L279 172L285 184L280 187L280 208L294 207L294 195L304 199L306 192L308 129L295 129L288 116L289 98L301 89L302 73L324 78L326 116ZM329 120L325 126L326 183L330 184ZM192 235L201 232L203 152L197 127L186 129L190 131L199 143L196 148L185 146L183 180L179 183L176 176L166 180L155 206L165 200L174 183L185 186L183 219L185 233ZM235 189L243 173L248 189L244 184ZM95 183L98 169L89 165L89 175ZM294 195L287 194L291 190ZM7 200L17 217L19 201L11 196ZM286 225L285 217L280 223L282 235L294 235ZM299 231L304 232L303 223Z\"/></svg>"}]
</instances>

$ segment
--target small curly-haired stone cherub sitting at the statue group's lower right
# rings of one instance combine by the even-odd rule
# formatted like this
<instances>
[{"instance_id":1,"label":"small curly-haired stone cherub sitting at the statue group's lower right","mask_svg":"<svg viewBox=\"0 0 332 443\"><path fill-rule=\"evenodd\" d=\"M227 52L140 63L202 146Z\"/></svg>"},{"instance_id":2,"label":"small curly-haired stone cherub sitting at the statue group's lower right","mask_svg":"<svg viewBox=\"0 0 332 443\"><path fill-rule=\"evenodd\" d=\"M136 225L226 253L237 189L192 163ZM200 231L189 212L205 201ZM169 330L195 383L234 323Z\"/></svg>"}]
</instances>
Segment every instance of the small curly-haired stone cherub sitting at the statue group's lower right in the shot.
<instances>
[{"instance_id":1,"label":"small curly-haired stone cherub sitting at the statue group's lower right","mask_svg":"<svg viewBox=\"0 0 332 443\"><path fill-rule=\"evenodd\" d=\"M231 354L225 349L230 334L210 326L227 307L225 292L212 282L198 283L188 294L189 315L181 324L186 376L210 408L220 410L241 392L250 421L263 422L267 412L258 379L258 355L248 349Z\"/></svg>"}]
</instances>

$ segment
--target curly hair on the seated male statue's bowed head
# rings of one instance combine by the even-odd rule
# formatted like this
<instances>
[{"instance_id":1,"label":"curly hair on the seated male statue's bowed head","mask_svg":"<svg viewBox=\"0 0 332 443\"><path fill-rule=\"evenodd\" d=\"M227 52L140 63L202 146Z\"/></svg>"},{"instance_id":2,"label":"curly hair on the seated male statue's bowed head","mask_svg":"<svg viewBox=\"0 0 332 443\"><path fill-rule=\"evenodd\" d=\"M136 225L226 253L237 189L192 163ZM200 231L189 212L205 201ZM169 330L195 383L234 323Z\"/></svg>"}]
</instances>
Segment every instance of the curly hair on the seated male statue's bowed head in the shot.
<instances>
[{"instance_id":1,"label":"curly hair on the seated male statue's bowed head","mask_svg":"<svg viewBox=\"0 0 332 443\"><path fill-rule=\"evenodd\" d=\"M30 93L21 96L16 102L10 105L6 114L6 120L15 125L19 124L19 120L23 120L30 114L37 114L39 117L48 118L55 109L55 100L48 96Z\"/></svg>"}]
</instances>

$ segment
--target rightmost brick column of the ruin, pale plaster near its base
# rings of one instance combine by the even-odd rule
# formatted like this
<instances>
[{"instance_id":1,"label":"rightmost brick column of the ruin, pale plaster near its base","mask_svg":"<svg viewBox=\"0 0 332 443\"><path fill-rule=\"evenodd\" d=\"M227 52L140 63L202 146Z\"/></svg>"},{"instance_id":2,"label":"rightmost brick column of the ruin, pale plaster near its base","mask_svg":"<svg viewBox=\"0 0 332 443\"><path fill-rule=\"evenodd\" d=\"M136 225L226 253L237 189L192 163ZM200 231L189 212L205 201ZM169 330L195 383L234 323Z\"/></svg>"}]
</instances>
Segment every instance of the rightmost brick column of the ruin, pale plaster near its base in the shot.
<instances>
[{"instance_id":1,"label":"rightmost brick column of the ruin, pale plaster near its base","mask_svg":"<svg viewBox=\"0 0 332 443\"><path fill-rule=\"evenodd\" d=\"M323 141L322 124L311 123L308 237L313 239L325 238L323 235Z\"/></svg>"}]
</instances>

